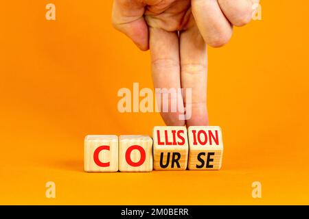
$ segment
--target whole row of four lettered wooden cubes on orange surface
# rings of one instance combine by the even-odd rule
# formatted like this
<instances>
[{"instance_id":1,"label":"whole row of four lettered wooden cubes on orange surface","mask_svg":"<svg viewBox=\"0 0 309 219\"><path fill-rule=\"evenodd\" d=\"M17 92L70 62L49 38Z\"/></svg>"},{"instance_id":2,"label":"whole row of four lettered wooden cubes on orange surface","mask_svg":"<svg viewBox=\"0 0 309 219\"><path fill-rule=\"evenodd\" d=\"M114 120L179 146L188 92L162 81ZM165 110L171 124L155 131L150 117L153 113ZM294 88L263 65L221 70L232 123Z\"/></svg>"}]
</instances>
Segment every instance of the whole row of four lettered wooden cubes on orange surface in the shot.
<instances>
[{"instance_id":1,"label":"whole row of four lettered wooden cubes on orange surface","mask_svg":"<svg viewBox=\"0 0 309 219\"><path fill-rule=\"evenodd\" d=\"M153 138L153 140L152 140ZM150 136L86 136L86 172L219 170L220 127L154 127Z\"/></svg>"}]
</instances>

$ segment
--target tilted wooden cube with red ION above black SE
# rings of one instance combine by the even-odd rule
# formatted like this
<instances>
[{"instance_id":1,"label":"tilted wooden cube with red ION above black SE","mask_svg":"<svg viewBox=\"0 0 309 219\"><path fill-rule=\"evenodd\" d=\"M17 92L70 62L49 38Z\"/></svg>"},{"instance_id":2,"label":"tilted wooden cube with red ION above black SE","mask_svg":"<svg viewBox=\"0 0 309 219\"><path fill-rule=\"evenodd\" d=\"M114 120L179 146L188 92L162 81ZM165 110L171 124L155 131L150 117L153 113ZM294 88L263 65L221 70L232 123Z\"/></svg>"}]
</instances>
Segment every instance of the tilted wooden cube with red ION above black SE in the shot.
<instances>
[{"instance_id":1,"label":"tilted wooden cube with red ION above black SE","mask_svg":"<svg viewBox=\"0 0 309 219\"><path fill-rule=\"evenodd\" d=\"M220 170L223 142L220 127L189 127L189 170Z\"/></svg>"}]
</instances>

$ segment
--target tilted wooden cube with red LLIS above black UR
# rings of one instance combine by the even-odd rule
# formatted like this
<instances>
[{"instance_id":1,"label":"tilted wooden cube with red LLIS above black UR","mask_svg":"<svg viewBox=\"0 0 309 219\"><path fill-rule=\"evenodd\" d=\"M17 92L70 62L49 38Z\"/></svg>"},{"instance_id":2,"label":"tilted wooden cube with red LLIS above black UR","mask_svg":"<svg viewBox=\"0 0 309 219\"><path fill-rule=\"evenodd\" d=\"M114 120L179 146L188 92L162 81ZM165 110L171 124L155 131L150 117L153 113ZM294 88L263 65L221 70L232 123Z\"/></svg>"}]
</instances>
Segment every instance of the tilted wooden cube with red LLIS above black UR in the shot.
<instances>
[{"instance_id":1,"label":"tilted wooden cube with red LLIS above black UR","mask_svg":"<svg viewBox=\"0 0 309 219\"><path fill-rule=\"evenodd\" d=\"M155 127L153 129L155 170L185 170L188 141L185 127Z\"/></svg>"}]
</instances>

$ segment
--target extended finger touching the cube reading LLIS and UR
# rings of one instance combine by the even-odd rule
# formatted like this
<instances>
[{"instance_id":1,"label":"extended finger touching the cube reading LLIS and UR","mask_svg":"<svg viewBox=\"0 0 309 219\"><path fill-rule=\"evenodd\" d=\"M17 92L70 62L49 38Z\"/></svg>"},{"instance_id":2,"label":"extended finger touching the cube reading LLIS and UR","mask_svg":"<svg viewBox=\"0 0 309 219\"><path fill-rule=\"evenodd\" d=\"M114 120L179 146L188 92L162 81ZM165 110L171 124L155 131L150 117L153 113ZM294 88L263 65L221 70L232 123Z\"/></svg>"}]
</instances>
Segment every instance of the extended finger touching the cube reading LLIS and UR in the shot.
<instances>
[{"instance_id":1,"label":"extended finger touching the cube reading LLIS and UR","mask_svg":"<svg viewBox=\"0 0 309 219\"><path fill-rule=\"evenodd\" d=\"M181 89L178 33L150 27L150 53L153 82L155 88L161 90L161 99L157 103L160 105L161 116L166 125L185 125L185 120L180 119L183 98L178 95ZM168 105L167 112L161 109L164 105Z\"/></svg>"}]
</instances>

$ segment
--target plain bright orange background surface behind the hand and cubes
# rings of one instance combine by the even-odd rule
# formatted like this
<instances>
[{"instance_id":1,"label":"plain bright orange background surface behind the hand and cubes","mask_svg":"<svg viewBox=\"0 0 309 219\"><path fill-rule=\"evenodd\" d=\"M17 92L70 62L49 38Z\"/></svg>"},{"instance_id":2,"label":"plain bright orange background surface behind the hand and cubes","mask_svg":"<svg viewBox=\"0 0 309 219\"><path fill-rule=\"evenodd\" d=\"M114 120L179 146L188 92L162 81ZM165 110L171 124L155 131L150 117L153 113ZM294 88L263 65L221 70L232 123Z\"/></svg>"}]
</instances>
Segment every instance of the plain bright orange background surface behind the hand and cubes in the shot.
<instances>
[{"instance_id":1,"label":"plain bright orange background surface behind the hand and cubes","mask_svg":"<svg viewBox=\"0 0 309 219\"><path fill-rule=\"evenodd\" d=\"M56 21L45 5L56 4ZM262 1L262 21L209 49L220 171L83 172L87 134L151 134L159 114L120 114L117 91L152 88L149 52L111 26L111 1L3 1L0 204L309 204L308 1ZM45 198L45 183L56 198ZM251 183L262 183L262 198Z\"/></svg>"}]
</instances>

